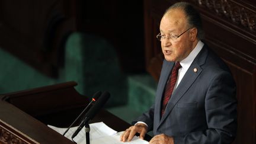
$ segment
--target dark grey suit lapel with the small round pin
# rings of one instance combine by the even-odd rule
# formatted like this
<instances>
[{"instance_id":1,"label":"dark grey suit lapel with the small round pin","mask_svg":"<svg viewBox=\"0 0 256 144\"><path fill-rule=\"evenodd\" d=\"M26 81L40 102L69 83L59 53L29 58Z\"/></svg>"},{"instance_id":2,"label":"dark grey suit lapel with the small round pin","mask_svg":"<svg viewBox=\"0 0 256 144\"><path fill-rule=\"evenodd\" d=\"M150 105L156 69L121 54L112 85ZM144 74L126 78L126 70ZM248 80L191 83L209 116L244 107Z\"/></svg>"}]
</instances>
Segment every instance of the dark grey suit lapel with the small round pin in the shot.
<instances>
[{"instance_id":1,"label":"dark grey suit lapel with the small round pin","mask_svg":"<svg viewBox=\"0 0 256 144\"><path fill-rule=\"evenodd\" d=\"M168 117L168 114L171 113L175 104L177 104L177 102L181 99L181 97L183 97L185 92L191 87L193 82L196 81L197 77L203 71L203 69L201 69L200 66L203 65L203 63L205 62L206 56L207 56L207 49L202 49L199 55L197 55L197 57L194 59L193 63L191 63L190 68L188 68L180 84L172 93L172 96L167 104L165 113L162 116L162 119L160 120L158 127ZM197 69L196 72L194 72L194 69Z\"/></svg>"}]
</instances>

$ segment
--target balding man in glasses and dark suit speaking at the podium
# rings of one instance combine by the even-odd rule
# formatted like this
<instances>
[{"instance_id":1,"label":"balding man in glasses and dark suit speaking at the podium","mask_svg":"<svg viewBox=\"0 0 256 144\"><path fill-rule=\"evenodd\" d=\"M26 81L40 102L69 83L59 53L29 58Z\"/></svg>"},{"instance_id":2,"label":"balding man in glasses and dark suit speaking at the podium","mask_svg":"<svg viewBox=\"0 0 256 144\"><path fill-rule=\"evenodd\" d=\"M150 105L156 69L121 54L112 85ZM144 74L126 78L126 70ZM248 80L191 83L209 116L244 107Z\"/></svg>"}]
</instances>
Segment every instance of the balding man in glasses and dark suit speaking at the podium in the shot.
<instances>
[{"instance_id":1,"label":"balding man in glasses and dark suit speaking at the podium","mask_svg":"<svg viewBox=\"0 0 256 144\"><path fill-rule=\"evenodd\" d=\"M232 143L237 128L236 86L228 66L201 41L199 13L178 2L162 17L160 33L165 59L155 104L133 122L120 140L149 143Z\"/></svg>"}]
</instances>

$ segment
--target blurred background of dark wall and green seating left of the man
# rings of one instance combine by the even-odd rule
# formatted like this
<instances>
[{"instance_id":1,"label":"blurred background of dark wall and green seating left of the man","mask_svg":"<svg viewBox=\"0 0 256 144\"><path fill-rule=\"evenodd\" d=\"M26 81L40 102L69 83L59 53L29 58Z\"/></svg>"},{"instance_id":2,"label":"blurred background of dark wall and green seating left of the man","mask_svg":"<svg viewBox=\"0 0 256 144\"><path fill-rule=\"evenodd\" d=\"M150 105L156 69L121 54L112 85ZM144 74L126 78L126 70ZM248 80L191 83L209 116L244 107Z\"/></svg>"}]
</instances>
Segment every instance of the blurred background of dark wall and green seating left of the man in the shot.
<instances>
[{"instance_id":1,"label":"blurred background of dark wall and green seating left of the man","mask_svg":"<svg viewBox=\"0 0 256 144\"><path fill-rule=\"evenodd\" d=\"M0 94L75 81L87 97L110 92L107 110L129 123L152 104L143 1L0 1L0 9Z\"/></svg>"}]
</instances>

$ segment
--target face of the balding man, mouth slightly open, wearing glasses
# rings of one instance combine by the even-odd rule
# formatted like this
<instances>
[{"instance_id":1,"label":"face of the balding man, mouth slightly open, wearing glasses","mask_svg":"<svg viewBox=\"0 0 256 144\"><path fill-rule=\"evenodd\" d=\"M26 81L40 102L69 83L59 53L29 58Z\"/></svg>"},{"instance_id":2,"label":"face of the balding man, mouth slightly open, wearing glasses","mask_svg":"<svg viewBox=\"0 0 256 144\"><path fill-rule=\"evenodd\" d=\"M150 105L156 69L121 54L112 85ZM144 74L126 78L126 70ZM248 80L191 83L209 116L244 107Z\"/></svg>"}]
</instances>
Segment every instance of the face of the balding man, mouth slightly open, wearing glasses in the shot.
<instances>
[{"instance_id":1,"label":"face of the balding man, mouth slightly open, wearing glasses","mask_svg":"<svg viewBox=\"0 0 256 144\"><path fill-rule=\"evenodd\" d=\"M179 36L188 28L190 27L188 27L185 14L180 9L171 9L162 17L160 24L161 35L167 37ZM186 31L177 40L165 39L161 41L162 53L164 53L167 61L180 62L194 49L194 38L191 37L191 30Z\"/></svg>"}]
</instances>

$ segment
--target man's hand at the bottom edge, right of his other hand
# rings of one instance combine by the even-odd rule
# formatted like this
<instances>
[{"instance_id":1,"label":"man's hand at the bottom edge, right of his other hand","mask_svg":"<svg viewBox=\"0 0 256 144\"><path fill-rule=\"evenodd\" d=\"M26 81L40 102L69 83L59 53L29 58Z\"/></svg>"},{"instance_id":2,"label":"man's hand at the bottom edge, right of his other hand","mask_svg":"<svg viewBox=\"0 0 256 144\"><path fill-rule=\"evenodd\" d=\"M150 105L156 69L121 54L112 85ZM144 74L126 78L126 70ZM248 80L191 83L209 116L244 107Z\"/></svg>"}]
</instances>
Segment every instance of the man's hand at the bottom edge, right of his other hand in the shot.
<instances>
[{"instance_id":1,"label":"man's hand at the bottom edge, right of his other hand","mask_svg":"<svg viewBox=\"0 0 256 144\"><path fill-rule=\"evenodd\" d=\"M169 137L167 135L161 134L154 136L149 144L174 144L174 139L172 137Z\"/></svg>"}]
</instances>

